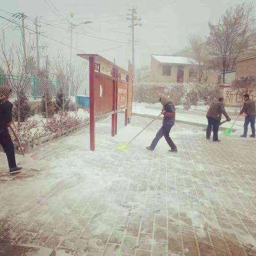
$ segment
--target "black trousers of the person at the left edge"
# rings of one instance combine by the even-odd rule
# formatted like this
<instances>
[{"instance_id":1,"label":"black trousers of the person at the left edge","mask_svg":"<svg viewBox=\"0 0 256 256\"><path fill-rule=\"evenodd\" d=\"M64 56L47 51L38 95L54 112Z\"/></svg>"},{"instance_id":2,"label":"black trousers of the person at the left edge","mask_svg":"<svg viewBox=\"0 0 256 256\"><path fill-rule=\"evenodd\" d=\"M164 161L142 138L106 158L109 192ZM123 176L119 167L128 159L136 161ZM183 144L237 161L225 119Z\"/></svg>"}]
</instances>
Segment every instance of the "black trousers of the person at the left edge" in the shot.
<instances>
[{"instance_id":1,"label":"black trousers of the person at the left edge","mask_svg":"<svg viewBox=\"0 0 256 256\"><path fill-rule=\"evenodd\" d=\"M7 156L9 168L16 167L14 145L8 131L0 133L0 144L3 147L5 154Z\"/></svg>"}]
</instances>

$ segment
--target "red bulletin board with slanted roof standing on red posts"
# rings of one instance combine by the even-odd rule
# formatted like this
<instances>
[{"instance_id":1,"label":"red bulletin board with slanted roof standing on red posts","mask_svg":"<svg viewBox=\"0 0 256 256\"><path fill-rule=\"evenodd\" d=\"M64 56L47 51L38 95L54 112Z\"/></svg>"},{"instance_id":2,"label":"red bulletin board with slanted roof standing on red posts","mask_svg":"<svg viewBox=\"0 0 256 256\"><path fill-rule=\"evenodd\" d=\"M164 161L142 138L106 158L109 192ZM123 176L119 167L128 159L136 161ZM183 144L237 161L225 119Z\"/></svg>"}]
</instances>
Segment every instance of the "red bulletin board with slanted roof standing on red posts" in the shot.
<instances>
[{"instance_id":1,"label":"red bulletin board with slanted roof standing on red posts","mask_svg":"<svg viewBox=\"0 0 256 256\"><path fill-rule=\"evenodd\" d=\"M90 74L90 149L95 150L95 120L111 115L111 135L117 134L118 110L125 110L127 125L128 82L127 70L98 54L77 54L89 60Z\"/></svg>"}]
</instances>

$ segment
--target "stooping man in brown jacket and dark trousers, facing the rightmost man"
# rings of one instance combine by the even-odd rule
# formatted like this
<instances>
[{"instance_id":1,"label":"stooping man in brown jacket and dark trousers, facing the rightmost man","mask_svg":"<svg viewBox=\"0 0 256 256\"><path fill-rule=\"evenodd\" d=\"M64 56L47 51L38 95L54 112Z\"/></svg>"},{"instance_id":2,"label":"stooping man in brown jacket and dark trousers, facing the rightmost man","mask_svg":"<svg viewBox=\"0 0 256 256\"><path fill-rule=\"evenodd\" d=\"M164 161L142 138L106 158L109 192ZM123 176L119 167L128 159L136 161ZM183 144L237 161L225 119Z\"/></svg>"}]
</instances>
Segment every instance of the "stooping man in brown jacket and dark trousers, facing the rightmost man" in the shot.
<instances>
[{"instance_id":1,"label":"stooping man in brown jacket and dark trousers, facing the rightmost man","mask_svg":"<svg viewBox=\"0 0 256 256\"><path fill-rule=\"evenodd\" d=\"M213 141L220 142L218 138L218 132L219 132L219 126L220 126L220 121L221 121L221 115L223 114L227 121L230 122L231 119L229 115L227 114L225 110L225 106L223 103L224 99L222 97L219 98L219 100L215 103L213 103L206 115L207 121L208 121L208 126L206 129L206 139L210 140L211 138L211 132L212 132L212 127L213 127Z\"/></svg>"}]
</instances>

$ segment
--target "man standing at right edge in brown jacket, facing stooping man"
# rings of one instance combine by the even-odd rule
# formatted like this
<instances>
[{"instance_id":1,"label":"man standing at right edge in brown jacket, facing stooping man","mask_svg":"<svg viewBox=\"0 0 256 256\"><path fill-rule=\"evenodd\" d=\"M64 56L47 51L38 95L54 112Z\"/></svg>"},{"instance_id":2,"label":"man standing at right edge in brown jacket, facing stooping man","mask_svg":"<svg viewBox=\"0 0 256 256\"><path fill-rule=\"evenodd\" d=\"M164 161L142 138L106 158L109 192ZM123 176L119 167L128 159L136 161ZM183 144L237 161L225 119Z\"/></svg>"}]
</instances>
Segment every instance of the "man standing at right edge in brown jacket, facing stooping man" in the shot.
<instances>
[{"instance_id":1,"label":"man standing at right edge in brown jacket, facing stooping man","mask_svg":"<svg viewBox=\"0 0 256 256\"><path fill-rule=\"evenodd\" d=\"M251 123L252 134L250 137L255 138L255 117L256 117L256 110L255 110L255 101L250 99L249 94L243 95L244 99L244 106L240 111L240 115L244 114L245 121L244 121L244 133L240 135L240 137L246 138L248 132L248 125Z\"/></svg>"}]
</instances>

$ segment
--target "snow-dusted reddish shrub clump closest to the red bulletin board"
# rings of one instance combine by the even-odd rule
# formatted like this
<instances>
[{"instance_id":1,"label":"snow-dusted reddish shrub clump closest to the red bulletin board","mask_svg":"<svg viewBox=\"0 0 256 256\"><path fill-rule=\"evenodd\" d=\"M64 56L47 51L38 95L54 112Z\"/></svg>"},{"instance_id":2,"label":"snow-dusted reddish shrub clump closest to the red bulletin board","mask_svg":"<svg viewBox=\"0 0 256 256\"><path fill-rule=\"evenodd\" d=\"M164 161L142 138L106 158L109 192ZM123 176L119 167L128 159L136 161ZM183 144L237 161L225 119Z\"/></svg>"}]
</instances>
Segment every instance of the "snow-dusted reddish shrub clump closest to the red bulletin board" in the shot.
<instances>
[{"instance_id":1,"label":"snow-dusted reddish shrub clump closest to the red bulletin board","mask_svg":"<svg viewBox=\"0 0 256 256\"><path fill-rule=\"evenodd\" d=\"M48 123L44 123L43 127L45 132L57 134L58 137L62 134L63 131L77 127L83 122L84 119L81 117L76 117L69 115L67 112L59 111L59 113L51 118Z\"/></svg>"}]
</instances>

